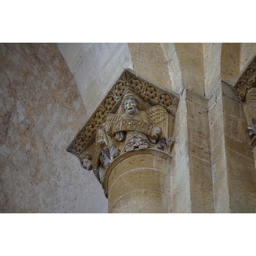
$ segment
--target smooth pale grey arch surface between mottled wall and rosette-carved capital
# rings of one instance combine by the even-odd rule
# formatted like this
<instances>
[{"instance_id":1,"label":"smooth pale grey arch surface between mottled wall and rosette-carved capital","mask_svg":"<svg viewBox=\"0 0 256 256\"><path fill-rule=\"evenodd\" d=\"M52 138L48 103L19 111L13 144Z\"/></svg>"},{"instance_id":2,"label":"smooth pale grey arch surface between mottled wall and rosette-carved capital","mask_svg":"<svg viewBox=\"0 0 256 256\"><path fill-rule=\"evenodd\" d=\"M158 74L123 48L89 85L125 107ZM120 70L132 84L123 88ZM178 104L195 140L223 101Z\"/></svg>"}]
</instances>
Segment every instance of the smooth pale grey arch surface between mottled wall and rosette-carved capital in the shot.
<instances>
[{"instance_id":1,"label":"smooth pale grey arch surface between mottled wall and rosette-carved capital","mask_svg":"<svg viewBox=\"0 0 256 256\"><path fill-rule=\"evenodd\" d=\"M122 71L125 68L133 68L130 50L125 43L73 46L60 43L58 49L71 68L88 117L97 108ZM75 56L70 53L71 49ZM79 64L77 64L78 61Z\"/></svg>"}]
</instances>

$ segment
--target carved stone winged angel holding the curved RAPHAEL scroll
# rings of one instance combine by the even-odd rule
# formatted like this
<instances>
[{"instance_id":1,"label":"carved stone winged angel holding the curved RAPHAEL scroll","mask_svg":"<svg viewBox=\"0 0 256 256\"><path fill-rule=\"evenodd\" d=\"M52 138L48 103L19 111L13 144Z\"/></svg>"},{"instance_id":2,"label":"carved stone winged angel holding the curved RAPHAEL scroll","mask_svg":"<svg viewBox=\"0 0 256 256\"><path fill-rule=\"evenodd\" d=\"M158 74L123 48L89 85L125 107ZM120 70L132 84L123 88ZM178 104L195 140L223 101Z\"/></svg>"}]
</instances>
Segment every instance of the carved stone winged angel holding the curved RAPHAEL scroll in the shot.
<instances>
[{"instance_id":1,"label":"carved stone winged angel holding the curved RAPHAEL scroll","mask_svg":"<svg viewBox=\"0 0 256 256\"><path fill-rule=\"evenodd\" d=\"M128 94L122 101L122 108L125 113L121 116L116 114L108 116L105 129L108 136L115 136L115 140L119 142L125 140L124 152L136 148L151 148L152 143L158 142L163 135L167 135L168 114L162 106L139 111L140 101L133 94Z\"/></svg>"}]
</instances>

